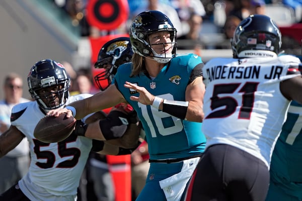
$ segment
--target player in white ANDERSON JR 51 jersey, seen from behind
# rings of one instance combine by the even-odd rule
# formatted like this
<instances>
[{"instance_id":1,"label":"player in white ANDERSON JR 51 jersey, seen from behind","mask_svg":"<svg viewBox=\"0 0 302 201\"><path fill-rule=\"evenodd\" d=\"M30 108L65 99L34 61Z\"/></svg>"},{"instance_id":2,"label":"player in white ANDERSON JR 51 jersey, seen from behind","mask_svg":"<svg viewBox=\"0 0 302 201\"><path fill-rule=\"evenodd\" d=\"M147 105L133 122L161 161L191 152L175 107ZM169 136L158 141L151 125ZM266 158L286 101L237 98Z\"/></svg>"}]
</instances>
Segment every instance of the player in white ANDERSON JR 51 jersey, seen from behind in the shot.
<instances>
[{"instance_id":1,"label":"player in white ANDERSON JR 51 jersey, seen from behind","mask_svg":"<svg viewBox=\"0 0 302 201\"><path fill-rule=\"evenodd\" d=\"M281 33L267 16L236 28L234 58L203 67L206 150L186 200L265 200L273 148L291 100L302 103L299 59L278 56Z\"/></svg>"}]
</instances>

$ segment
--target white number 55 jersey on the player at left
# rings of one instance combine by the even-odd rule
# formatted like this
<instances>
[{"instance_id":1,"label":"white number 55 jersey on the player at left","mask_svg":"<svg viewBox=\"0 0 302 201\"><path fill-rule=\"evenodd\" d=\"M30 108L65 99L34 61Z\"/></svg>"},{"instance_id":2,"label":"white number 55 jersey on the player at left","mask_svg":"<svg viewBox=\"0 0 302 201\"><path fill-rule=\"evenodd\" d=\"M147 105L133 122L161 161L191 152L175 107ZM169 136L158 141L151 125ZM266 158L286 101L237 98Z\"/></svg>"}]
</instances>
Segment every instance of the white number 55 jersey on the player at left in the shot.
<instances>
[{"instance_id":1,"label":"white number 55 jersey on the player at left","mask_svg":"<svg viewBox=\"0 0 302 201\"><path fill-rule=\"evenodd\" d=\"M69 96L66 104L89 96ZM30 144L29 172L19 181L19 186L30 200L50 200L49 195L76 195L93 147L92 140L70 135L61 142L43 143L33 135L35 126L43 117L45 114L36 101L19 104L12 110L11 124L25 135Z\"/></svg>"}]
</instances>

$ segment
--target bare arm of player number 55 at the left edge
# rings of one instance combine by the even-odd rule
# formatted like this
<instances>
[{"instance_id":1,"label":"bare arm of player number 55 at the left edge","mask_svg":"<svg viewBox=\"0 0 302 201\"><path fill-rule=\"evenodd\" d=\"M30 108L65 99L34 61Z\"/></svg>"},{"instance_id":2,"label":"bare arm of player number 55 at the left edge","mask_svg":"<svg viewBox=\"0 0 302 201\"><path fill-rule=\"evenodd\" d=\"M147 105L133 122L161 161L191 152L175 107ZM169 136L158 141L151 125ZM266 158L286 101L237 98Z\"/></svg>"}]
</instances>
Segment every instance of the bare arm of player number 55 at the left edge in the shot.
<instances>
[{"instance_id":1,"label":"bare arm of player number 55 at the left edge","mask_svg":"<svg viewBox=\"0 0 302 201\"><path fill-rule=\"evenodd\" d=\"M6 132L0 135L0 157L13 150L25 136L15 126L11 126Z\"/></svg>"}]
</instances>

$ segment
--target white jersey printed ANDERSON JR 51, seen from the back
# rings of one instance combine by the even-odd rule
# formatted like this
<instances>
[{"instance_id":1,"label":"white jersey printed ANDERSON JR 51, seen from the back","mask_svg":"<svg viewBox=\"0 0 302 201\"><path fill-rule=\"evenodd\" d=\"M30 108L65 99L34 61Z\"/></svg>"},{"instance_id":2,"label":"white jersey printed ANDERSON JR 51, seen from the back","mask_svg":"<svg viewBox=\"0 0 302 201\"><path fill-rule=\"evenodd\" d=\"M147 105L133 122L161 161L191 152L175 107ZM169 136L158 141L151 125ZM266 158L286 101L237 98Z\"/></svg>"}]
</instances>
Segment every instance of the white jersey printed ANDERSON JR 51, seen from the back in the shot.
<instances>
[{"instance_id":1,"label":"white jersey printed ANDERSON JR 51, seen from the back","mask_svg":"<svg viewBox=\"0 0 302 201\"><path fill-rule=\"evenodd\" d=\"M299 59L289 55L208 61L203 67L206 146L235 146L269 168L290 103L280 82L300 76L298 64Z\"/></svg>"}]
</instances>

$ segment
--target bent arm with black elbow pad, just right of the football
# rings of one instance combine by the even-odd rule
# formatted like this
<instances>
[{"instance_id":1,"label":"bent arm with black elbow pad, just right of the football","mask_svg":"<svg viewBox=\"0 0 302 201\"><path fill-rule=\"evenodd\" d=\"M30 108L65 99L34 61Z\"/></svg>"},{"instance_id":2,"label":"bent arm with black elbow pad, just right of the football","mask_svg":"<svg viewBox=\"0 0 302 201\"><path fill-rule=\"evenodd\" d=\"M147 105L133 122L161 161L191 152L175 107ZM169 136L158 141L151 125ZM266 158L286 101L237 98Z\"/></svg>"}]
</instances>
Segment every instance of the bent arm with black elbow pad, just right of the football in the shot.
<instances>
[{"instance_id":1,"label":"bent arm with black elbow pad, just right of the football","mask_svg":"<svg viewBox=\"0 0 302 201\"><path fill-rule=\"evenodd\" d=\"M78 120L74 134L91 139L105 141L122 148L137 146L141 126L138 124L136 113L126 112L127 105L113 108L108 116L102 112L93 114L86 120L87 124Z\"/></svg>"}]
</instances>

